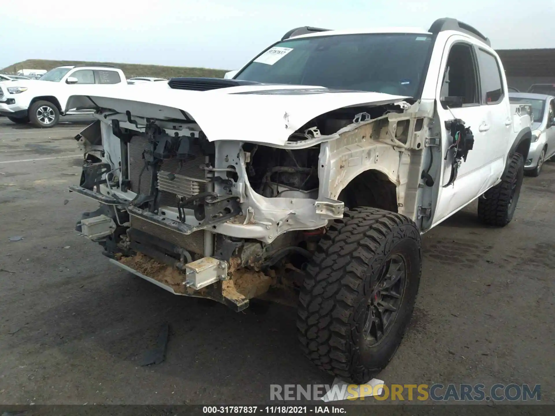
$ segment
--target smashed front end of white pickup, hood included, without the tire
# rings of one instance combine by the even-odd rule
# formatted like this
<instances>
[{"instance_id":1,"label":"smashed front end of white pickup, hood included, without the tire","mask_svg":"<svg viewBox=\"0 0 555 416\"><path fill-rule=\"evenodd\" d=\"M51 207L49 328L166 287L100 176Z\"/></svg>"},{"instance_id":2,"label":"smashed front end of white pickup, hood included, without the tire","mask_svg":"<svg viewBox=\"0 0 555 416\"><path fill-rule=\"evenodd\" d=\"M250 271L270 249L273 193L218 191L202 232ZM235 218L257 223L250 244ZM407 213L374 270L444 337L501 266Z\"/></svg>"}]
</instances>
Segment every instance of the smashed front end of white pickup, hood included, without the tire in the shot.
<instances>
[{"instance_id":1,"label":"smashed front end of white pickup, hood included, without the tire","mask_svg":"<svg viewBox=\"0 0 555 416\"><path fill-rule=\"evenodd\" d=\"M303 265L346 207L421 218L433 104L321 87L176 91L172 82L157 101L137 89L68 102L97 110L75 137L84 164L70 190L100 206L76 229L115 265L240 311L253 297L295 302Z\"/></svg>"}]
</instances>

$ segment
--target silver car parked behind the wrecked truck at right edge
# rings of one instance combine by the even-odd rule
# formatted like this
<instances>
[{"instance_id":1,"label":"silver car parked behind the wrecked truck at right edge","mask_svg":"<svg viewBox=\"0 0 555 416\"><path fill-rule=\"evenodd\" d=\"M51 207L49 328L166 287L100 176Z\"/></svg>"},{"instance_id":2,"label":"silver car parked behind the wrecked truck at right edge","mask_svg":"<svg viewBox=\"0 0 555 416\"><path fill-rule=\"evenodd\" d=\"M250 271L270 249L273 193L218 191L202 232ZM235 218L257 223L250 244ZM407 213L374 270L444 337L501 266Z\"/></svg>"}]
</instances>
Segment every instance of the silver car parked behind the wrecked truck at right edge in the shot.
<instances>
[{"instance_id":1,"label":"silver car parked behind the wrecked truck at right edge","mask_svg":"<svg viewBox=\"0 0 555 416\"><path fill-rule=\"evenodd\" d=\"M524 171L538 176L544 161L555 155L555 97L545 94L509 93L511 104L532 106L532 143Z\"/></svg>"}]
</instances>

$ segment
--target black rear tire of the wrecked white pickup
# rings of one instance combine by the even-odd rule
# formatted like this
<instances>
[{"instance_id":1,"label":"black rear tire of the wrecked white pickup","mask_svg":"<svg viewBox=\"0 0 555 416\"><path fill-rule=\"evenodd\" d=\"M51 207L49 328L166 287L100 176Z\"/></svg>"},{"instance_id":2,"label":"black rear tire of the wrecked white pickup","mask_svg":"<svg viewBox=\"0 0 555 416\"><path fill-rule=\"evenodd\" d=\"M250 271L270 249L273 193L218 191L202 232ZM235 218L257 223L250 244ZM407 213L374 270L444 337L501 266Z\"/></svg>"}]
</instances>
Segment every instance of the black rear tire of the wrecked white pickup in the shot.
<instances>
[{"instance_id":1,"label":"black rear tire of the wrecked white pickup","mask_svg":"<svg viewBox=\"0 0 555 416\"><path fill-rule=\"evenodd\" d=\"M487 225L504 227L513 219L524 176L524 158L515 153L501 182L478 199L478 218Z\"/></svg>"}]
</instances>

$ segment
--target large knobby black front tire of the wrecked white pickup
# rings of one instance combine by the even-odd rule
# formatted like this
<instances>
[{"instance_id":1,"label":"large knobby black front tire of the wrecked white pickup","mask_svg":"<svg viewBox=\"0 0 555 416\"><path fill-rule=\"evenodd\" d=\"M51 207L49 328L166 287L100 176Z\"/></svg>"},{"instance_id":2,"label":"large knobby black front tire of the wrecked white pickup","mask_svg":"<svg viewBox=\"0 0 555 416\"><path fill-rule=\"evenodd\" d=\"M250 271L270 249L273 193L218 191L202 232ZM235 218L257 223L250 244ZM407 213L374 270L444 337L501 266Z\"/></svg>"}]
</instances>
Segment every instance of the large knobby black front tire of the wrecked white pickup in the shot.
<instances>
[{"instance_id":1,"label":"large knobby black front tire of the wrecked white pickup","mask_svg":"<svg viewBox=\"0 0 555 416\"><path fill-rule=\"evenodd\" d=\"M396 283L402 290L395 293L395 302L388 301L397 305L397 312L390 315L380 341L374 342L377 337L365 336L365 324L372 316L372 301L388 296L385 289L376 291L376 286L381 288L387 280L384 270L391 269L393 258L400 258L405 267ZM387 366L401 344L416 301L421 263L420 231L410 219L374 208L346 211L328 227L307 266L297 312L306 356L345 381L368 382Z\"/></svg>"}]
</instances>

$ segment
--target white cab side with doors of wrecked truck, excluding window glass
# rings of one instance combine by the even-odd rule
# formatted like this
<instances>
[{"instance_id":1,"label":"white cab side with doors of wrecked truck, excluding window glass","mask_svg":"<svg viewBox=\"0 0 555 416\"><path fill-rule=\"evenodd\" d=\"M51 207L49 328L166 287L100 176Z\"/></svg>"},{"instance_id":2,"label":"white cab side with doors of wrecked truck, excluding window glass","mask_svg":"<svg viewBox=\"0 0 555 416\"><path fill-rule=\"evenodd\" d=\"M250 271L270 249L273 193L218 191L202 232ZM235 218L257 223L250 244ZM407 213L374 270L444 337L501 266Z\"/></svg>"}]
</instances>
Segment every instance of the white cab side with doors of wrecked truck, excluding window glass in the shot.
<instances>
[{"instance_id":1,"label":"white cab side with doors of wrecked truck, excluding window glass","mask_svg":"<svg viewBox=\"0 0 555 416\"><path fill-rule=\"evenodd\" d=\"M453 109L444 109L440 102L443 74L447 65L448 53L454 43L463 42L481 48L494 55L502 69L495 50L469 35L453 31L438 34L435 48L430 60L422 99L434 99L438 105L437 115L442 126L445 121L459 118L472 129L475 138L474 148L468 154L458 170L455 183L448 187L451 174L450 160L443 161L442 186L438 190L436 208L433 212L432 227L447 219L455 212L470 204L485 191L495 186L504 171L509 149L518 133L531 125L529 116L511 114L507 80L501 70L504 97L501 102L492 105L469 105ZM480 80L478 79L478 83ZM442 155L445 155L452 139L447 129L442 129Z\"/></svg>"}]
</instances>

